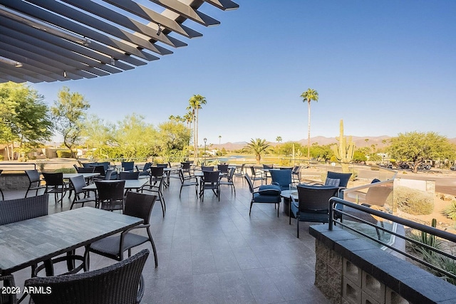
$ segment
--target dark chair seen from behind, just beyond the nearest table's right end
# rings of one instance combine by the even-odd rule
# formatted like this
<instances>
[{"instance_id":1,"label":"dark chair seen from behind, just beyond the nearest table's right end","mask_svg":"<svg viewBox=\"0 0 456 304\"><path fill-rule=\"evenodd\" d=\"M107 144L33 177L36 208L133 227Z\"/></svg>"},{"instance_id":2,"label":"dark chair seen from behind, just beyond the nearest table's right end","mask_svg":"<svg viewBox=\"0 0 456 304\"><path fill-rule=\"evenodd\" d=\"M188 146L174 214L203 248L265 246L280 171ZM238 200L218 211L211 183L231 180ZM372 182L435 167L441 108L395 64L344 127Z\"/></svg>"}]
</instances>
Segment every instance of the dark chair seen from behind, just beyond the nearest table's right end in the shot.
<instances>
[{"instance_id":1,"label":"dark chair seen from behind, just beyond the nearest table's right end","mask_svg":"<svg viewBox=\"0 0 456 304\"><path fill-rule=\"evenodd\" d=\"M96 206L109 211L123 210L125 180L95 181L97 187Z\"/></svg>"}]
</instances>

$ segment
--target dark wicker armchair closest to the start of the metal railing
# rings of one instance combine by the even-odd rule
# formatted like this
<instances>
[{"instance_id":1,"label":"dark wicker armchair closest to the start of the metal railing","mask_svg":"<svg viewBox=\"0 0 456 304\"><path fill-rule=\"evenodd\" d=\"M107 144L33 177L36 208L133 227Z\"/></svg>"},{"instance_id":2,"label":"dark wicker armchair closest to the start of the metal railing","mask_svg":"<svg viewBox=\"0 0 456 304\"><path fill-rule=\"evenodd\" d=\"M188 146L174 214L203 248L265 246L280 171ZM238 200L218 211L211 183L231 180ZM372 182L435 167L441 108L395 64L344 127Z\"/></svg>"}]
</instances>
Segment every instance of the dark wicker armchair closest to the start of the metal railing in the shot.
<instances>
[{"instance_id":1,"label":"dark wicker armchair closest to the start of the metal railing","mask_svg":"<svg viewBox=\"0 0 456 304\"><path fill-rule=\"evenodd\" d=\"M329 199L337 196L338 187L298 185L298 201L291 199L291 212L296 216L296 237L299 238L299 222L328 223Z\"/></svg>"}]
</instances>

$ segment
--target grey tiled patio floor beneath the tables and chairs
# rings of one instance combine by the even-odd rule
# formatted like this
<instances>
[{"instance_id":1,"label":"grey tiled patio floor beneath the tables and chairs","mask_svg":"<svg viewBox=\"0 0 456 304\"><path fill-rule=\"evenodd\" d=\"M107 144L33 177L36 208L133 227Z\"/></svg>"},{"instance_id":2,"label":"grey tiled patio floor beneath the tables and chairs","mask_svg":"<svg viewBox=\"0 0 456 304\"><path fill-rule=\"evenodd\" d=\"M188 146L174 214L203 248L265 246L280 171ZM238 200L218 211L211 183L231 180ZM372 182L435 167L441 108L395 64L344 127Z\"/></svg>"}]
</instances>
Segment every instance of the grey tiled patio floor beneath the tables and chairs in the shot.
<instances>
[{"instance_id":1,"label":"grey tiled patio floor beneath the tables and chairs","mask_svg":"<svg viewBox=\"0 0 456 304\"><path fill-rule=\"evenodd\" d=\"M314 238L309 224L288 224L273 204L254 204L249 216L250 193L242 179L236 196L222 188L220 201L209 192L204 202L195 189L171 179L165 189L167 206L162 217L160 202L152 211L151 231L158 251L158 268L152 256L143 275L145 295L141 303L329 303L314 286ZM24 192L5 192L6 199ZM50 199L49 213L62 211ZM63 211L70 200L63 200ZM138 247L150 248L147 243ZM151 252L152 254L152 252ZM115 263L90 254L90 268ZM21 285L30 269L14 274Z\"/></svg>"}]
</instances>

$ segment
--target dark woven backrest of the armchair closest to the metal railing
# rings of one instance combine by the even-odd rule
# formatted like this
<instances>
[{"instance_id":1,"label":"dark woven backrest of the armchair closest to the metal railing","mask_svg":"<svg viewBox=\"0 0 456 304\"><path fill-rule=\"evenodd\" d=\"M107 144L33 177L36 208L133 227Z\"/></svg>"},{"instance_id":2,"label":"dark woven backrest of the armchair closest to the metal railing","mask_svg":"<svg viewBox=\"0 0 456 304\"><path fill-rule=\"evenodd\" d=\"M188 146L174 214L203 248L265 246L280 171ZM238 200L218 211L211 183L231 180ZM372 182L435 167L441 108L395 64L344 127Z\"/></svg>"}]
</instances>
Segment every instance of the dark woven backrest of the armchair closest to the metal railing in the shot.
<instances>
[{"instance_id":1,"label":"dark woven backrest of the armchair closest to the metal railing","mask_svg":"<svg viewBox=\"0 0 456 304\"><path fill-rule=\"evenodd\" d=\"M299 212L328 212L329 199L337 196L338 187L298 185Z\"/></svg>"}]
</instances>

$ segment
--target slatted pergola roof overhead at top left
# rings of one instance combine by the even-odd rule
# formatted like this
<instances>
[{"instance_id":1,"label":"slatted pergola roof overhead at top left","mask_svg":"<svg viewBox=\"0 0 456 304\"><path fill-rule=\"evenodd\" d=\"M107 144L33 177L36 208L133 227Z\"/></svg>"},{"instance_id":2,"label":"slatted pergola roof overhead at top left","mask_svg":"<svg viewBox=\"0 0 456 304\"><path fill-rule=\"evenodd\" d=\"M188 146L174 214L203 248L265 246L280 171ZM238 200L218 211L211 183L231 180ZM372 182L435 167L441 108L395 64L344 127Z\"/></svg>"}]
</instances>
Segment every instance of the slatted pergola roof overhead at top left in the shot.
<instances>
[{"instance_id":1,"label":"slatted pergola roof overhead at top left","mask_svg":"<svg viewBox=\"0 0 456 304\"><path fill-rule=\"evenodd\" d=\"M174 36L202 36L184 21L219 24L199 11L204 2L239 7L231 0L0 0L0 83L95 78L146 65L171 54L165 46L187 46Z\"/></svg>"}]
</instances>

